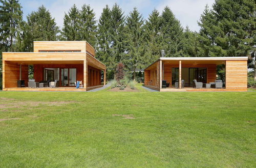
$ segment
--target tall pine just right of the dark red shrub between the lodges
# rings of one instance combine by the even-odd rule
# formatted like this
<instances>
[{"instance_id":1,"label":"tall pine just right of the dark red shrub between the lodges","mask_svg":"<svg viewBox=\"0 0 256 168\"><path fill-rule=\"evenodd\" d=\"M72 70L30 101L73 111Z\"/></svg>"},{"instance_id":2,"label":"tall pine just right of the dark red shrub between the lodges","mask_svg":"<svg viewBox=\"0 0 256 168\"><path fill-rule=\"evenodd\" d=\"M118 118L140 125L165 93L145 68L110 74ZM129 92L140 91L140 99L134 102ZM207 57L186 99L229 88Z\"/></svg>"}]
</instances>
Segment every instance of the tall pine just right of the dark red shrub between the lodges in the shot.
<instances>
[{"instance_id":1,"label":"tall pine just right of the dark red shrub between the lodges","mask_svg":"<svg viewBox=\"0 0 256 168\"><path fill-rule=\"evenodd\" d=\"M126 53L122 58L122 62L129 70L133 71L133 79L136 79L136 68L143 67L143 26L144 20L136 8L130 12L126 18Z\"/></svg>"}]
</instances>

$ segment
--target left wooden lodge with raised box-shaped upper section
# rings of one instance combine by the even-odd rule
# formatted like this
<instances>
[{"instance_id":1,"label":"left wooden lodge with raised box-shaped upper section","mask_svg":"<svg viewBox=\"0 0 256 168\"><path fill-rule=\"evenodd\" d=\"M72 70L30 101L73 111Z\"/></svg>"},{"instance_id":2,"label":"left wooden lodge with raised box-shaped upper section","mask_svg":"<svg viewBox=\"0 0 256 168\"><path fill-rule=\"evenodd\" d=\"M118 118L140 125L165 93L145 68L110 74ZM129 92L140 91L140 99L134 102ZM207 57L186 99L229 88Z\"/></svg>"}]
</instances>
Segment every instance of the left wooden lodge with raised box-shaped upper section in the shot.
<instances>
[{"instance_id":1,"label":"left wooden lodge with raised box-shaped upper section","mask_svg":"<svg viewBox=\"0 0 256 168\"><path fill-rule=\"evenodd\" d=\"M106 66L94 57L87 41L34 41L34 52L3 52L5 91L88 91L105 85ZM56 88L28 88L28 68L36 82L59 81ZM19 88L17 81L25 81ZM76 89L76 82L83 87Z\"/></svg>"}]
</instances>

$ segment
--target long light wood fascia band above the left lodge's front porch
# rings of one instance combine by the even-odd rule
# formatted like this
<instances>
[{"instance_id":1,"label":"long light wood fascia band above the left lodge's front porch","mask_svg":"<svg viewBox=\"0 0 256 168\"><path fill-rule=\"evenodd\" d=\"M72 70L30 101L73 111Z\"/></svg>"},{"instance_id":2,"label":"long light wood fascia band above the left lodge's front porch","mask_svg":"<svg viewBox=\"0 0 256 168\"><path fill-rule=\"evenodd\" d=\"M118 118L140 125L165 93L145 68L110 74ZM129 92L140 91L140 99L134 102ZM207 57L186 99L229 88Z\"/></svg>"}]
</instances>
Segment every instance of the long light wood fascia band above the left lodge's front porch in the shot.
<instances>
[{"instance_id":1,"label":"long light wood fascia band above the left lodge's front porch","mask_svg":"<svg viewBox=\"0 0 256 168\"><path fill-rule=\"evenodd\" d=\"M82 61L85 59L84 52L3 52L5 61Z\"/></svg>"}]
</instances>

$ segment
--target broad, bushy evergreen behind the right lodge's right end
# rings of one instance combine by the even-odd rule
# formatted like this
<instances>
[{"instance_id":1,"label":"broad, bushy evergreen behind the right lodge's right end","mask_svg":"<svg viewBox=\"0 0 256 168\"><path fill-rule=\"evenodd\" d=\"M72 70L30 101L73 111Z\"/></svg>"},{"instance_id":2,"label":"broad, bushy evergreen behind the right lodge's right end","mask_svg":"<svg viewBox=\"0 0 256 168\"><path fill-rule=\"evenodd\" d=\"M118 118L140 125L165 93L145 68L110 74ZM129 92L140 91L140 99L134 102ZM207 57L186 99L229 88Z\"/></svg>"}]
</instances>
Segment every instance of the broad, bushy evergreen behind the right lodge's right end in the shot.
<instances>
[{"instance_id":1,"label":"broad, bushy evergreen behind the right lodge's right end","mask_svg":"<svg viewBox=\"0 0 256 168\"><path fill-rule=\"evenodd\" d=\"M207 56L247 56L255 45L255 2L215 1L212 10L204 11L199 25L203 48L208 50Z\"/></svg>"}]
</instances>

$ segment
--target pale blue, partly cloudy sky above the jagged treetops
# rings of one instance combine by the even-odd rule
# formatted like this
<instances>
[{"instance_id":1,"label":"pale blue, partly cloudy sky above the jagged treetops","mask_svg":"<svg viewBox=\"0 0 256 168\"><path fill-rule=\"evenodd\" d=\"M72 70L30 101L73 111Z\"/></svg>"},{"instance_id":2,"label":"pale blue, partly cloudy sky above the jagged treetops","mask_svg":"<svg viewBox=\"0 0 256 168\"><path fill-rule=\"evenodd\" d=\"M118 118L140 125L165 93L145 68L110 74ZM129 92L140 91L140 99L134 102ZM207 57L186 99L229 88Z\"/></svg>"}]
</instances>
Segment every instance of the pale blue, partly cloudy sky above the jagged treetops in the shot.
<instances>
[{"instance_id":1,"label":"pale blue, partly cloudy sky above the jagged treetops","mask_svg":"<svg viewBox=\"0 0 256 168\"><path fill-rule=\"evenodd\" d=\"M44 5L55 18L57 25L62 28L63 17L65 12L68 13L73 4L81 9L83 4L90 5L95 12L96 19L98 20L102 9L109 5L110 8L117 3L125 15L128 15L133 8L137 8L142 14L144 19L147 19L148 15L157 9L160 14L165 6L168 6L174 13L177 19L183 27L188 26L191 31L199 31L200 27L197 21L200 19L200 15L206 4L211 7L215 0L20 0L20 4L23 7L24 19L32 11L36 11L41 5Z\"/></svg>"}]
</instances>

